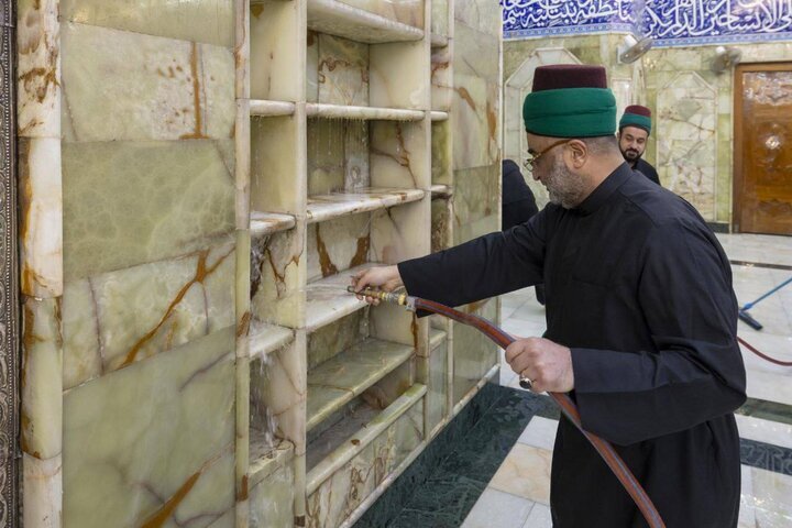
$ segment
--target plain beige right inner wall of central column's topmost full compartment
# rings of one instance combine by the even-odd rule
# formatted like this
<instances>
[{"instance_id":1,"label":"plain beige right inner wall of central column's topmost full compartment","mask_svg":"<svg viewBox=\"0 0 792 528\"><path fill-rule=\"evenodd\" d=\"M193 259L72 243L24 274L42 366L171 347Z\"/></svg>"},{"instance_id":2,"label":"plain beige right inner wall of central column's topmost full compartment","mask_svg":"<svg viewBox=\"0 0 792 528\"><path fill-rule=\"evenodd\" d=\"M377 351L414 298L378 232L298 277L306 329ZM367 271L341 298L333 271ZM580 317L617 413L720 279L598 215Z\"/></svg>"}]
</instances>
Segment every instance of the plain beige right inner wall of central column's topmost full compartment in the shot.
<instances>
[{"instance_id":1,"label":"plain beige right inner wall of central column's topmost full compartment","mask_svg":"<svg viewBox=\"0 0 792 528\"><path fill-rule=\"evenodd\" d=\"M372 107L429 110L428 42L372 44L369 50L369 103Z\"/></svg>"}]
</instances>

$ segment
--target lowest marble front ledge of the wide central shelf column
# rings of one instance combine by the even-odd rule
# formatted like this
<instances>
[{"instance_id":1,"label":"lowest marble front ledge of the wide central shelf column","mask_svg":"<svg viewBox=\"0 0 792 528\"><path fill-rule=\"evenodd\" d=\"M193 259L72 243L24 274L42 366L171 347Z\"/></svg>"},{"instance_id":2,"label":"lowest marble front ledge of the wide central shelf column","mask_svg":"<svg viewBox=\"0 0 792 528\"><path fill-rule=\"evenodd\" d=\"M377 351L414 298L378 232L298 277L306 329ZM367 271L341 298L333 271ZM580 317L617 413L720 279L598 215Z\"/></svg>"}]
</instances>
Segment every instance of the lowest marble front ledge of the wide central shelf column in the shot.
<instances>
[{"instance_id":1,"label":"lowest marble front ledge of the wide central shelf column","mask_svg":"<svg viewBox=\"0 0 792 528\"><path fill-rule=\"evenodd\" d=\"M388 405L387 408L377 414L374 419L360 428L358 432L349 439L349 441L343 442L336 450L324 454L321 462L317 463L308 471L306 479L306 494L311 495L338 469L363 451L366 446L369 446L398 418L407 413L410 407L419 404L426 393L426 385L421 385L419 383L414 384L402 396L396 398L393 404ZM320 441L320 439L317 441Z\"/></svg>"}]
</instances>

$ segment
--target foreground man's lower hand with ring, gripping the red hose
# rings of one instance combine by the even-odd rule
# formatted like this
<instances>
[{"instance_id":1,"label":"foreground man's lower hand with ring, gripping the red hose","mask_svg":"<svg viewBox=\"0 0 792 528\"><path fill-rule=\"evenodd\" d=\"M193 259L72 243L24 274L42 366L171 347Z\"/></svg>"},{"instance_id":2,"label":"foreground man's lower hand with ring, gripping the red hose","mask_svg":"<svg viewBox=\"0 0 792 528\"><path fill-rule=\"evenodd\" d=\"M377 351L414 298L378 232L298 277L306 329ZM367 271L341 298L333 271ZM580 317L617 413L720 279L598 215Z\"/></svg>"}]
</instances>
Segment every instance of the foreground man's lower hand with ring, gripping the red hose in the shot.
<instances>
[{"instance_id":1,"label":"foreground man's lower hand with ring, gripping the red hose","mask_svg":"<svg viewBox=\"0 0 792 528\"><path fill-rule=\"evenodd\" d=\"M569 393L574 388L572 352L543 338L518 339L506 348L506 361L531 381L531 391Z\"/></svg>"}]
</instances>

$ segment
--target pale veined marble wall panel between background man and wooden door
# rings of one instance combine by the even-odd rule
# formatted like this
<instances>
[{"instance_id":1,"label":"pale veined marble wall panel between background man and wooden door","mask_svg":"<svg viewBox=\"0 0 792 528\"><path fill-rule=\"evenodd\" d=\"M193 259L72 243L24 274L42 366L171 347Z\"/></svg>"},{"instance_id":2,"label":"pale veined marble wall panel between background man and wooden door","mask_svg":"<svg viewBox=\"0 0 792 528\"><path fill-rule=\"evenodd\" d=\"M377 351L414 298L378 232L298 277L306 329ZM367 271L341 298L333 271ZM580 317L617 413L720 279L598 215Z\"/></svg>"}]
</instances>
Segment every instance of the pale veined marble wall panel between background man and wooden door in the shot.
<instances>
[{"instance_id":1,"label":"pale veined marble wall panel between background man and wooden door","mask_svg":"<svg viewBox=\"0 0 792 528\"><path fill-rule=\"evenodd\" d=\"M669 77L657 96L661 180L705 220L715 220L716 111L717 91L695 72Z\"/></svg>"}]
</instances>

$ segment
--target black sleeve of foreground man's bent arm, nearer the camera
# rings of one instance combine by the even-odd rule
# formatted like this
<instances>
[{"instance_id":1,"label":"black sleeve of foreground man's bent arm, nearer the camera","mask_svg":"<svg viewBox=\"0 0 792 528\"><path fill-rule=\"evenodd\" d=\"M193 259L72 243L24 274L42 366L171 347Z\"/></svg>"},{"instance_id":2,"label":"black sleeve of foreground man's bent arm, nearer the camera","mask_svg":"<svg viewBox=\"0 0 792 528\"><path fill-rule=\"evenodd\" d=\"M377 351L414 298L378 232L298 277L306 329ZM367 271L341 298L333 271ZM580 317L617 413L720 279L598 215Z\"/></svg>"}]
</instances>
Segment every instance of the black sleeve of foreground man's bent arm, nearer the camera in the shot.
<instances>
[{"instance_id":1,"label":"black sleeve of foreground man's bent arm, nearer the camera","mask_svg":"<svg viewBox=\"0 0 792 528\"><path fill-rule=\"evenodd\" d=\"M704 226L653 231L637 295L657 350L572 349L583 427L622 446L689 429L746 398L726 256Z\"/></svg>"}]
</instances>

